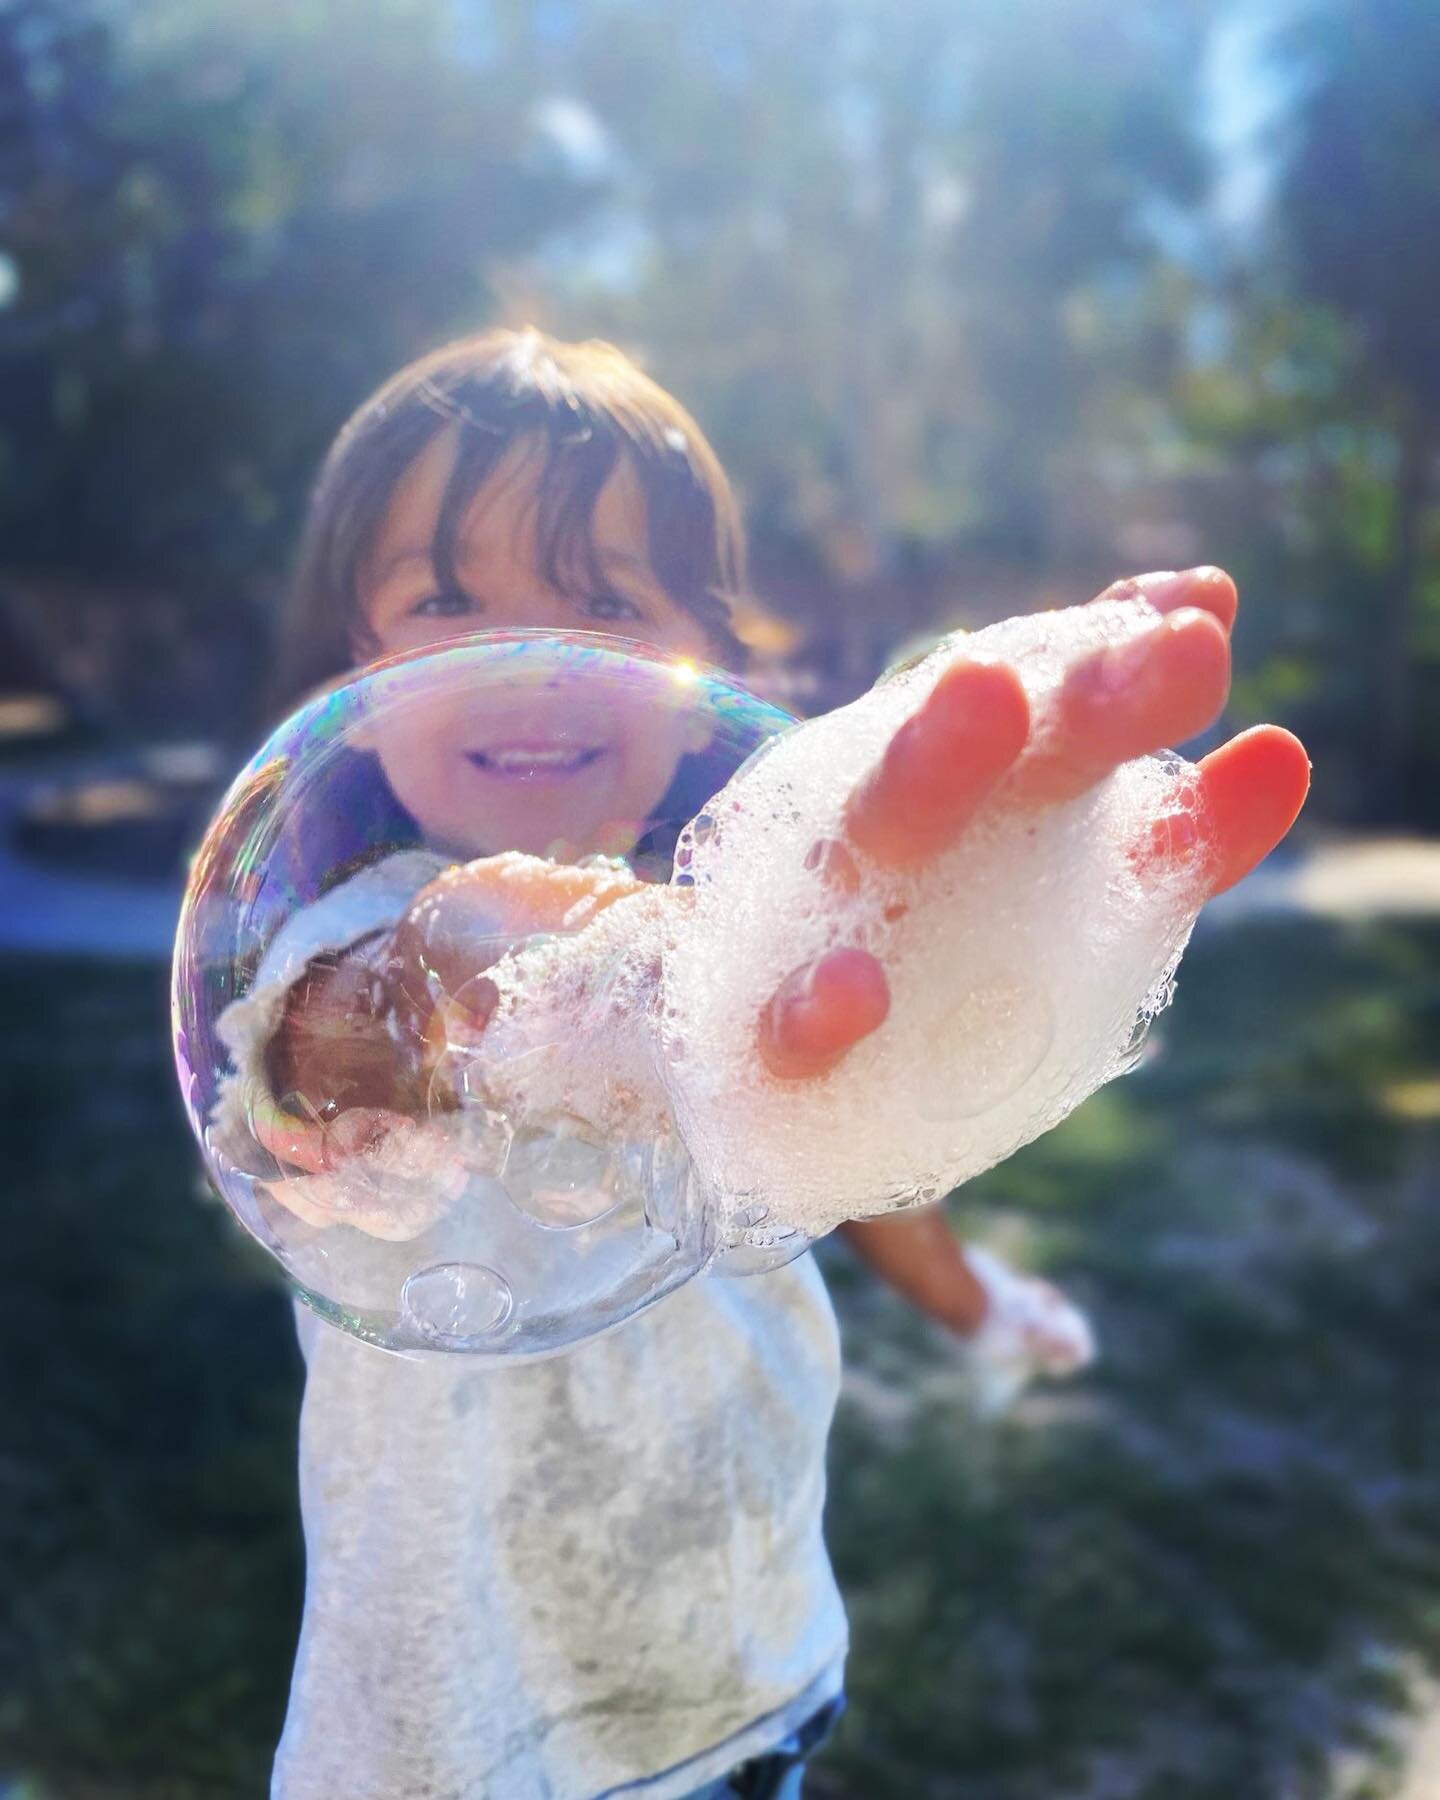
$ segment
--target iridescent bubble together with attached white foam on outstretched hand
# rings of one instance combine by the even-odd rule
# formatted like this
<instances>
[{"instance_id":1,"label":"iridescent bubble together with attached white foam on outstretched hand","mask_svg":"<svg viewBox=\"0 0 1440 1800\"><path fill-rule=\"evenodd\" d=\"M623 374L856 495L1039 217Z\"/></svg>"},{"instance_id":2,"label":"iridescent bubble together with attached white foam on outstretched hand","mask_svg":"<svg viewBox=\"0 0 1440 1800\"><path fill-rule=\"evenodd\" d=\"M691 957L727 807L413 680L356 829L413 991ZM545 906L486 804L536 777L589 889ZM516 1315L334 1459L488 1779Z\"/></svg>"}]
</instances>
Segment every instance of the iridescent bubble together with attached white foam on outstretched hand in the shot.
<instances>
[{"instance_id":1,"label":"iridescent bubble together with attached white foam on outstretched hand","mask_svg":"<svg viewBox=\"0 0 1440 1800\"><path fill-rule=\"evenodd\" d=\"M328 1318L398 1350L563 1348L713 1267L923 1204L1130 1067L1204 891L1179 758L1004 787L905 873L851 794L956 655L1039 738L1145 601L941 643L806 725L601 637L495 634L297 713L196 860L176 1053L211 1172ZM1183 855L1156 857L1159 821ZM830 950L889 1013L828 1073L758 1053Z\"/></svg>"}]
</instances>

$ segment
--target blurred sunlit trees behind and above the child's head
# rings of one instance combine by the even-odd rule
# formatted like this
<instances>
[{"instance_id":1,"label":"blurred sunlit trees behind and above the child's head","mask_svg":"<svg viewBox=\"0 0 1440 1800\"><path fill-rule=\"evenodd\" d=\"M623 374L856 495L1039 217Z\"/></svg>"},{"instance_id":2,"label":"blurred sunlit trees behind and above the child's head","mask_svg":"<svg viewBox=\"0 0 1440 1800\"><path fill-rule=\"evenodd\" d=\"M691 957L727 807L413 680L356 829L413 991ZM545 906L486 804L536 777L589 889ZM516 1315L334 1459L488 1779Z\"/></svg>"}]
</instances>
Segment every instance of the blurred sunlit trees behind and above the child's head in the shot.
<instances>
[{"instance_id":1,"label":"blurred sunlit trees behind and above the child's head","mask_svg":"<svg viewBox=\"0 0 1440 1800\"><path fill-rule=\"evenodd\" d=\"M349 407L536 317L695 405L839 688L1215 560L1235 722L1435 823L1436 119L1431 0L5 0L5 563L223 644Z\"/></svg>"}]
</instances>

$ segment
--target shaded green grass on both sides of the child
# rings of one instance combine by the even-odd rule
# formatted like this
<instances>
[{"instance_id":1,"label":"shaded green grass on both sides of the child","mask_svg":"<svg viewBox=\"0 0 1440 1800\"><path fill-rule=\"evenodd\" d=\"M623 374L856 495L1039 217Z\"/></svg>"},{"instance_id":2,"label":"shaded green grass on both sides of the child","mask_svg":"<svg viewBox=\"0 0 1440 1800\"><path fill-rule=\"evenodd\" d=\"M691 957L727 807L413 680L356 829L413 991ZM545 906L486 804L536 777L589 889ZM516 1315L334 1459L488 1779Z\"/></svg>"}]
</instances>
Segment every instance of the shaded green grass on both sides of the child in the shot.
<instances>
[{"instance_id":1,"label":"shaded green grass on both sides of the child","mask_svg":"<svg viewBox=\"0 0 1440 1800\"><path fill-rule=\"evenodd\" d=\"M191 1202L158 974L0 963L0 1786L261 1795L299 1606L286 1303ZM1003 1424L826 1258L855 1656L817 1789L1388 1791L1440 1656L1436 1051L1440 931L1195 945L1141 1073L958 1204L1105 1343Z\"/></svg>"}]
</instances>

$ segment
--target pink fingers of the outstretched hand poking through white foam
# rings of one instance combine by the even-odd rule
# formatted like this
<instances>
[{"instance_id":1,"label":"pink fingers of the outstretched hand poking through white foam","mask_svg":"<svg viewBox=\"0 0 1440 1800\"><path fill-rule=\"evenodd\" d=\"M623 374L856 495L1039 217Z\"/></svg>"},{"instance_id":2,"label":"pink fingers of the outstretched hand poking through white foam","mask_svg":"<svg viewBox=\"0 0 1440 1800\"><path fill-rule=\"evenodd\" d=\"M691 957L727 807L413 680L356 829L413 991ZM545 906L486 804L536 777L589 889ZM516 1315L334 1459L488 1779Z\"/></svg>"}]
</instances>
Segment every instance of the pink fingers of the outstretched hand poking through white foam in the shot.
<instances>
[{"instance_id":1,"label":"pink fingers of the outstretched hand poking through white foam","mask_svg":"<svg viewBox=\"0 0 1440 1800\"><path fill-rule=\"evenodd\" d=\"M1100 596L1125 598L1156 608L1154 630L1073 668L1049 720L1031 718L1015 670L956 661L851 796L844 837L815 848L828 878L853 880L851 850L913 869L954 846L992 799L1015 808L1075 799L1120 763L1213 724L1229 689L1235 583L1220 569L1190 569L1118 581ZM1199 763L1197 810L1154 819L1134 857L1159 864L1204 848L1206 898L1224 893L1289 832L1309 779L1298 738L1256 725ZM760 1021L758 1055L776 1076L817 1076L887 1012L880 963L860 949L832 950L781 985Z\"/></svg>"}]
</instances>

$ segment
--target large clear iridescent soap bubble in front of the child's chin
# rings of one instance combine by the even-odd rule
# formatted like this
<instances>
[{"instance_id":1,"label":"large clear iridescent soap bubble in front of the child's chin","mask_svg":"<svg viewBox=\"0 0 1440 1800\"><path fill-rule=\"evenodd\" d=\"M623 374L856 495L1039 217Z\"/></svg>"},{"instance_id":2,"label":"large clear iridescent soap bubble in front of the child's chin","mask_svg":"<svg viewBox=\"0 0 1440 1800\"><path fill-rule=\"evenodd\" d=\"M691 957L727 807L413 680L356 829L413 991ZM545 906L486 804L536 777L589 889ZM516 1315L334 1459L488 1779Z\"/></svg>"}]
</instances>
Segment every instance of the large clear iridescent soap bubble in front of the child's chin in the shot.
<instances>
[{"instance_id":1,"label":"large clear iridescent soap bubble in front of the child's chin","mask_svg":"<svg viewBox=\"0 0 1440 1800\"><path fill-rule=\"evenodd\" d=\"M241 772L184 904L176 1057L214 1183L311 1307L394 1350L544 1354L724 1247L655 1103L653 923L509 1013L607 905L653 911L641 882L788 724L637 644L486 634L317 698ZM499 1094L486 1060L524 1084L576 1010L589 1116Z\"/></svg>"}]
</instances>

